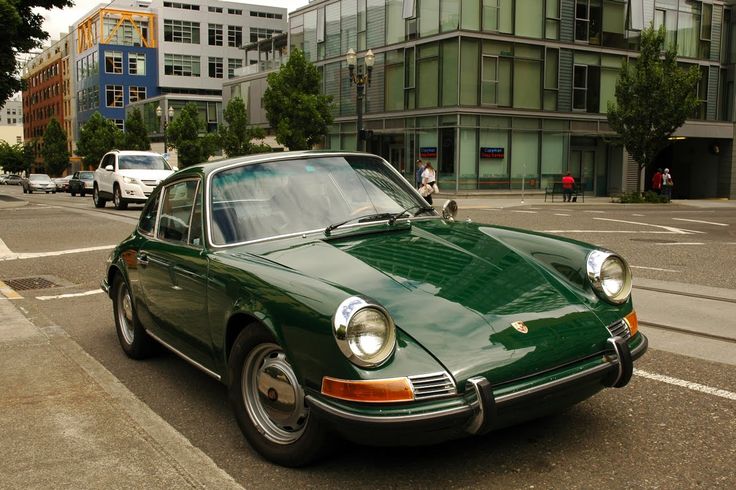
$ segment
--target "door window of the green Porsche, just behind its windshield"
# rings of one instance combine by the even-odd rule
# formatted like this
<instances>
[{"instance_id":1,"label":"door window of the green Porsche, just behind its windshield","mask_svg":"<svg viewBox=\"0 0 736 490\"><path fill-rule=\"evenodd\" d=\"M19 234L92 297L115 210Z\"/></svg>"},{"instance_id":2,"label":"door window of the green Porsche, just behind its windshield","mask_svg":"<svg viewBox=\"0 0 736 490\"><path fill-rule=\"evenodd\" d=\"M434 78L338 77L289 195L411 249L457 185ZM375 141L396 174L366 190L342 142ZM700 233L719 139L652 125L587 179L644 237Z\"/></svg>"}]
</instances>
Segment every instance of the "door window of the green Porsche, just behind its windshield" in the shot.
<instances>
[{"instance_id":1,"label":"door window of the green Porsche, just behind its windshield","mask_svg":"<svg viewBox=\"0 0 736 490\"><path fill-rule=\"evenodd\" d=\"M185 180L166 187L161 200L157 237L169 242L188 243L197 180Z\"/></svg>"}]
</instances>

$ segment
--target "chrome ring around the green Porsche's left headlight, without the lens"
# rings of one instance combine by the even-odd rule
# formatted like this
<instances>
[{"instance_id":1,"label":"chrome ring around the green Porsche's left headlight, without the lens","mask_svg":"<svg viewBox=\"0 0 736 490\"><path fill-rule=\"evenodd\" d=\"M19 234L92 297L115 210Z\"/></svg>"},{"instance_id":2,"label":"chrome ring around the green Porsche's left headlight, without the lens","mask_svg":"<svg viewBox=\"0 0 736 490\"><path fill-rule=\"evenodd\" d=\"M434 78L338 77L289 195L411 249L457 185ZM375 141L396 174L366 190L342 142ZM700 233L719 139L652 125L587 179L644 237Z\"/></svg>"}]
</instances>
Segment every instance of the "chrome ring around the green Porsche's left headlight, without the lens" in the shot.
<instances>
[{"instance_id":1,"label":"chrome ring around the green Porsche's left headlight, without the lens","mask_svg":"<svg viewBox=\"0 0 736 490\"><path fill-rule=\"evenodd\" d=\"M361 353L356 341L354 330L357 328L356 319L358 315L376 313L383 321L385 334L382 336L381 344L375 353L367 355ZM332 320L332 333L340 351L350 362L359 367L373 368L386 362L396 350L396 326L388 311L381 305L359 296L347 298L335 311Z\"/></svg>"}]
</instances>

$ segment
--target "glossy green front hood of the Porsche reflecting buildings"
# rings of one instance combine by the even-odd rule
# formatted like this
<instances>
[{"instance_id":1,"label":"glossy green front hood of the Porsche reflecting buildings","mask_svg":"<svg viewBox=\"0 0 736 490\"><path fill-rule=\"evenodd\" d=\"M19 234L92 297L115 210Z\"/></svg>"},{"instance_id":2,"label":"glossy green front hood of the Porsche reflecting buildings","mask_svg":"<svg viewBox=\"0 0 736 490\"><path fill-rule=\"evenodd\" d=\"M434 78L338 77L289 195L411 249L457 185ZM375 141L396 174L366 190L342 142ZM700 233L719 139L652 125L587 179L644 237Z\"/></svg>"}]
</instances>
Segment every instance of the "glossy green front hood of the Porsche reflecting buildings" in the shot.
<instances>
[{"instance_id":1,"label":"glossy green front hood of the Porsche reflecting buildings","mask_svg":"<svg viewBox=\"0 0 736 490\"><path fill-rule=\"evenodd\" d=\"M605 349L609 334L582 291L499 236L526 238L520 231L418 220L261 255L378 301L458 381L484 374L503 383Z\"/></svg>"}]
</instances>

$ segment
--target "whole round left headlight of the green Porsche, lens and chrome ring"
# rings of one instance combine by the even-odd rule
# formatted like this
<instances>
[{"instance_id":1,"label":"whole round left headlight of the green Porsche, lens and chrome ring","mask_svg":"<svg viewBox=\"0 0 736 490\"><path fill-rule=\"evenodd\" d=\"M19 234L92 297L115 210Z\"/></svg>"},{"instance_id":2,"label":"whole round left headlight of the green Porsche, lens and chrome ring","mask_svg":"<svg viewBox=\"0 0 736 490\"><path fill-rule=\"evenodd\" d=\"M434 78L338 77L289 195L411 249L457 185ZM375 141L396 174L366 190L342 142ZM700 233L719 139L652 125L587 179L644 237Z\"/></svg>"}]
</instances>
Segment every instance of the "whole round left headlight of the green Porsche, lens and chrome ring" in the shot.
<instances>
[{"instance_id":1,"label":"whole round left headlight of the green Porsche, lens and chrome ring","mask_svg":"<svg viewBox=\"0 0 736 490\"><path fill-rule=\"evenodd\" d=\"M337 307L333 334L342 353L360 367L375 367L396 347L396 328L380 305L352 296Z\"/></svg>"}]
</instances>

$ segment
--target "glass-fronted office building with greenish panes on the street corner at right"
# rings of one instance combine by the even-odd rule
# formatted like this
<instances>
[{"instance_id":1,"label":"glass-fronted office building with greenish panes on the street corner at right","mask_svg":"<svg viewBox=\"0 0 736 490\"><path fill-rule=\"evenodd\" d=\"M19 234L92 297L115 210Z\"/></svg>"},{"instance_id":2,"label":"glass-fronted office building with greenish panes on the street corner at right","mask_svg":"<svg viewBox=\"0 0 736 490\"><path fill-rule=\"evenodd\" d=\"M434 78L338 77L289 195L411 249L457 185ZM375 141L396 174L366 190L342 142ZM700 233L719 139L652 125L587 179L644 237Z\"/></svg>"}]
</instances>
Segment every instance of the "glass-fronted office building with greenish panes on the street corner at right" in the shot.
<instances>
[{"instance_id":1,"label":"glass-fronted office building with greenish panes on the street corner at right","mask_svg":"<svg viewBox=\"0 0 736 490\"><path fill-rule=\"evenodd\" d=\"M700 107L654 167L679 176L675 197L734 198L729 2L316 0L291 13L288 45L317 65L334 98L328 148L358 147L345 54L353 48L360 66L370 49L364 147L410 180L417 158L458 192L543 189L570 170L604 196L637 185L638 165L606 110L650 23L664 25L682 66L702 74ZM236 82L240 93L249 84L258 85Z\"/></svg>"}]
</instances>

